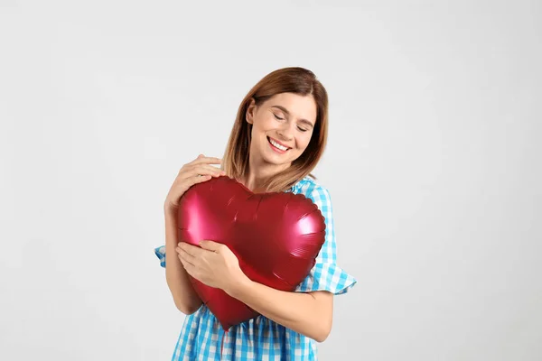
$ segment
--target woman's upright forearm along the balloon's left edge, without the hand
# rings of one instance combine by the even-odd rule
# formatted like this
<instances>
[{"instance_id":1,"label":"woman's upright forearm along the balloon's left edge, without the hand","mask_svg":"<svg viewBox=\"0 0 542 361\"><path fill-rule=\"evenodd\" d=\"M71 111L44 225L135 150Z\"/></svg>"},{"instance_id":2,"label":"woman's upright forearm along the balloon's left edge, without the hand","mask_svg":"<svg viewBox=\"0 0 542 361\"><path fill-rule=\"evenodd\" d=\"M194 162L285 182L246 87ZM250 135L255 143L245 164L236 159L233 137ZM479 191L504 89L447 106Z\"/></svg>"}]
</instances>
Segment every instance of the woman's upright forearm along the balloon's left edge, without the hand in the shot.
<instances>
[{"instance_id":1,"label":"woman's upright forearm along the balloon's left edge, without the hand","mask_svg":"<svg viewBox=\"0 0 542 361\"><path fill-rule=\"evenodd\" d=\"M189 315L201 306L201 299L194 291L188 274L182 267L175 251L177 246L177 221L175 214L164 209L165 218L165 280L172 292L175 306L182 313Z\"/></svg>"}]
</instances>

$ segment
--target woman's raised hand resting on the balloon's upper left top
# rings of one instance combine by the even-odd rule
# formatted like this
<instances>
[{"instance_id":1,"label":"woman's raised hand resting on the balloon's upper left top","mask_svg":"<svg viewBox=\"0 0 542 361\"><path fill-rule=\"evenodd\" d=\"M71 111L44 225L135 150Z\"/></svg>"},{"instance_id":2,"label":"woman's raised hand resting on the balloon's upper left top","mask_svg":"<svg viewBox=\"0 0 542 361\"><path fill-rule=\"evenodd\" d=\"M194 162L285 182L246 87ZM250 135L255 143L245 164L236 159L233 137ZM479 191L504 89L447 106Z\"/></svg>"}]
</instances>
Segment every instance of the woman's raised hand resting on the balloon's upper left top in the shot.
<instances>
[{"instance_id":1,"label":"woman's raised hand resting on the balloon's upper left top","mask_svg":"<svg viewBox=\"0 0 542 361\"><path fill-rule=\"evenodd\" d=\"M184 164L167 194L164 210L170 212L176 211L179 208L179 199L194 184L210 180L212 177L226 175L225 171L221 171L210 165L220 164L221 162L219 158L206 157L200 154L194 161Z\"/></svg>"}]
</instances>

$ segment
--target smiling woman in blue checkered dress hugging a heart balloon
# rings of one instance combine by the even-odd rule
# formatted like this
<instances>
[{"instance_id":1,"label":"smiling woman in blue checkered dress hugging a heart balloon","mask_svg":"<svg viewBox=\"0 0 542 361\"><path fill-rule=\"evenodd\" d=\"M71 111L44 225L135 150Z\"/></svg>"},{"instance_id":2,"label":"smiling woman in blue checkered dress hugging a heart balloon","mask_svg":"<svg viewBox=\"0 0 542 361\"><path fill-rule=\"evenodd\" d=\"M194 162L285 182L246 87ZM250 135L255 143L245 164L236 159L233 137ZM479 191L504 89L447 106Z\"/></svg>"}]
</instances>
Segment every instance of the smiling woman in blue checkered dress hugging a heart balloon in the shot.
<instances>
[{"instance_id":1,"label":"smiling woman in blue checkered dress hugging a heart balloon","mask_svg":"<svg viewBox=\"0 0 542 361\"><path fill-rule=\"evenodd\" d=\"M155 249L177 308L188 315L173 360L315 360L316 342L332 329L333 295L356 282L337 266L332 204L313 171L327 139L328 98L313 72L278 69L261 79L238 108L224 159L200 155L185 164L164 204L166 242ZM211 164L221 164L220 169ZM228 246L176 242L175 214L193 184L228 175L253 192L304 194L320 208L325 243L311 273L294 292L252 282ZM261 315L227 333L201 304L188 275L224 290Z\"/></svg>"}]
</instances>

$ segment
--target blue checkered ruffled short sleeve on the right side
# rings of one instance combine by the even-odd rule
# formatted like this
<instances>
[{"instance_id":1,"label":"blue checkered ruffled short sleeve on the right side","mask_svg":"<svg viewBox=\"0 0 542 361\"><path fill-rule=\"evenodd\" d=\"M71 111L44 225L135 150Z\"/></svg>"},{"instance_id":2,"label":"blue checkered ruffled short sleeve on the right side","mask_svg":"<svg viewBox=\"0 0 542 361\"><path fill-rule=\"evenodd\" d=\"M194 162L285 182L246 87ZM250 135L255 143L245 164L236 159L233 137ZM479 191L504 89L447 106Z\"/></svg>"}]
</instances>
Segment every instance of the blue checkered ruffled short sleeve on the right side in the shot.
<instances>
[{"instance_id":1,"label":"blue checkered ruffled short sleeve on the right side","mask_svg":"<svg viewBox=\"0 0 542 361\"><path fill-rule=\"evenodd\" d=\"M350 291L357 281L337 265L337 244L335 242L330 193L321 185L313 182L310 182L309 188L301 193L304 193L308 199L313 200L313 203L322 212L322 216L325 218L325 241L316 257L313 269L294 291L327 291L335 295L346 293Z\"/></svg>"}]
</instances>

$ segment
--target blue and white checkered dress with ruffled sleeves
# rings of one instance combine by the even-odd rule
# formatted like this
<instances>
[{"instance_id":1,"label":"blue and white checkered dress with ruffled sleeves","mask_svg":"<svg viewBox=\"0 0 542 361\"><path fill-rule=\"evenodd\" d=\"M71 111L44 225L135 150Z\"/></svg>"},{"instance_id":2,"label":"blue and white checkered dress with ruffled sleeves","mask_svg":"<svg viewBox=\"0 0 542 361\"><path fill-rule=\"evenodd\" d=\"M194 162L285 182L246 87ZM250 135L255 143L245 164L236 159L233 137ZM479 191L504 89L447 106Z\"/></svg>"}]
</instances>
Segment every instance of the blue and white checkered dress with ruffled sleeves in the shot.
<instances>
[{"instance_id":1,"label":"blue and white checkered dress with ruffled sleeves","mask_svg":"<svg viewBox=\"0 0 542 361\"><path fill-rule=\"evenodd\" d=\"M304 194L322 211L325 218L325 242L311 273L294 292L348 292L356 280L336 264L335 229L332 202L327 189L305 177L290 190ZM165 267L165 246L154 249ZM221 354L221 355L220 355ZM218 319L205 306L184 319L172 361L208 360L316 360L316 341L271 319L258 316L224 332Z\"/></svg>"}]
</instances>

